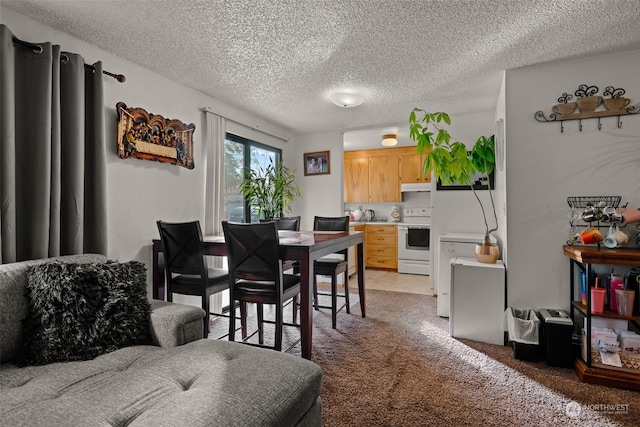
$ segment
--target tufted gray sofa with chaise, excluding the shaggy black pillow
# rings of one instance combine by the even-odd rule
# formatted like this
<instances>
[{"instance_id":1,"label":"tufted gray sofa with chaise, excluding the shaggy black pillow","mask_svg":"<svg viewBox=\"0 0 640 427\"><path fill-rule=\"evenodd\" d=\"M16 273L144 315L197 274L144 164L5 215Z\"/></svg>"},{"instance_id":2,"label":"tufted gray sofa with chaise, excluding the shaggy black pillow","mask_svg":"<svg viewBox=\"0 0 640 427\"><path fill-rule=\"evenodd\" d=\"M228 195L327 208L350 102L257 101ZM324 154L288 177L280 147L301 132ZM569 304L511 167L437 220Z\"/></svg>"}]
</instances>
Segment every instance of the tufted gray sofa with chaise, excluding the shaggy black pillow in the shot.
<instances>
[{"instance_id":1,"label":"tufted gray sofa with chaise, excluding the shaggy black pillow","mask_svg":"<svg viewBox=\"0 0 640 427\"><path fill-rule=\"evenodd\" d=\"M0 424L6 426L319 426L318 365L201 339L204 311L152 301L154 345L92 360L19 367L28 266L0 265ZM55 258L103 262L101 255ZM12 363L13 362L13 363Z\"/></svg>"}]
</instances>

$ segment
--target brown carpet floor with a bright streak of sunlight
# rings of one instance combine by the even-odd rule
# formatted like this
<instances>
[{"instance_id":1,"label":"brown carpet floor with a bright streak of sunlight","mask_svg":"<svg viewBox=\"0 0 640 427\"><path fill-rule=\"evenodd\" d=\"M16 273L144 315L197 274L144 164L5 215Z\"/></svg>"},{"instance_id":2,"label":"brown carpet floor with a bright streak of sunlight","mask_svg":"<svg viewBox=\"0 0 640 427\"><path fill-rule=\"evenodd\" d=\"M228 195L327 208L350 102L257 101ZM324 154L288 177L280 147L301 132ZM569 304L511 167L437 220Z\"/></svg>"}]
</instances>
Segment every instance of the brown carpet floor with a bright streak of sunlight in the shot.
<instances>
[{"instance_id":1,"label":"brown carpet floor with a bright streak of sunlight","mask_svg":"<svg viewBox=\"0 0 640 427\"><path fill-rule=\"evenodd\" d=\"M640 424L639 392L515 360L509 347L453 339L432 296L369 290L365 319L352 298L336 330L329 310L314 317L326 427ZM292 341L299 332L285 335Z\"/></svg>"}]
</instances>

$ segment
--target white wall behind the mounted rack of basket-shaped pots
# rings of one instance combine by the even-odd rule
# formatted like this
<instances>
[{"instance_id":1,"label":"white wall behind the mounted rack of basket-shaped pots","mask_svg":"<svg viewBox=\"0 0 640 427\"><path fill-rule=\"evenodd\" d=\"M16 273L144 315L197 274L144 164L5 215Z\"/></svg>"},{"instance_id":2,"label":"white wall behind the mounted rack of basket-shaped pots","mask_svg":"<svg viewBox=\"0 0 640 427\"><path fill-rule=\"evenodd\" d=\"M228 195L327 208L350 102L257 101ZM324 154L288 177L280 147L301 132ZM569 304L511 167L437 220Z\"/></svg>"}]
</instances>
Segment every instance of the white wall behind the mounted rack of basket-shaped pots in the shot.
<instances>
[{"instance_id":1,"label":"white wall behind the mounted rack of basket-shaped pots","mask_svg":"<svg viewBox=\"0 0 640 427\"><path fill-rule=\"evenodd\" d=\"M506 73L508 304L569 308L568 196L622 196L640 207L640 115L541 123L563 92L580 84L624 88L640 102L640 50ZM629 227L629 231L631 228Z\"/></svg>"}]
</instances>

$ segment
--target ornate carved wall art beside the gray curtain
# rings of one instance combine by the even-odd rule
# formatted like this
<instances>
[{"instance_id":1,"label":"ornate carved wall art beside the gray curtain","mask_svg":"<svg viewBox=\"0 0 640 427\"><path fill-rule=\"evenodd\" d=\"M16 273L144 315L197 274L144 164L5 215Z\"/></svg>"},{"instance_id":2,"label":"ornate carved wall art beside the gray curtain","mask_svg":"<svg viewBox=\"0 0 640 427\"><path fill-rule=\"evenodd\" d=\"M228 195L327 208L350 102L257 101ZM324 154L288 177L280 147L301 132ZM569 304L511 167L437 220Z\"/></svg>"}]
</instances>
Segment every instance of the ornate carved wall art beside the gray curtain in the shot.
<instances>
[{"instance_id":1,"label":"ornate carved wall art beside the gray curtain","mask_svg":"<svg viewBox=\"0 0 640 427\"><path fill-rule=\"evenodd\" d=\"M194 168L193 123L165 119L144 108L127 108L124 102L116 104L116 111L120 158L136 157Z\"/></svg>"}]
</instances>

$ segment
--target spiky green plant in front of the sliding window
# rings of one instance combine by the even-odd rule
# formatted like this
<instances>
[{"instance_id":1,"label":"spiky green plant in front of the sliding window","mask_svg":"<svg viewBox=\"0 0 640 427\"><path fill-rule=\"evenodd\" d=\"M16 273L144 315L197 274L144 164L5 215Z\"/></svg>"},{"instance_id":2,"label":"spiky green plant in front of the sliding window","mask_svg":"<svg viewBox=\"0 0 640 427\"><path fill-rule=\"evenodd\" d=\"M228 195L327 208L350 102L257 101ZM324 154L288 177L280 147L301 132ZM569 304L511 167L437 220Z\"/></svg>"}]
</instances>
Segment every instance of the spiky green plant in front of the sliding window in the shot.
<instances>
[{"instance_id":1,"label":"spiky green plant in front of the sliding window","mask_svg":"<svg viewBox=\"0 0 640 427\"><path fill-rule=\"evenodd\" d=\"M240 184L240 193L249 202L249 206L258 209L258 217L273 219L290 212L291 203L300 196L300 187L295 184L295 171L284 166L283 162L274 164L269 160L265 167L245 169L245 180Z\"/></svg>"}]
</instances>

